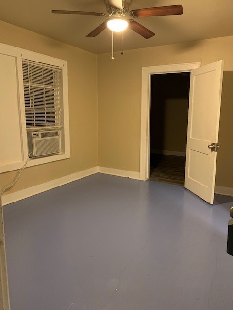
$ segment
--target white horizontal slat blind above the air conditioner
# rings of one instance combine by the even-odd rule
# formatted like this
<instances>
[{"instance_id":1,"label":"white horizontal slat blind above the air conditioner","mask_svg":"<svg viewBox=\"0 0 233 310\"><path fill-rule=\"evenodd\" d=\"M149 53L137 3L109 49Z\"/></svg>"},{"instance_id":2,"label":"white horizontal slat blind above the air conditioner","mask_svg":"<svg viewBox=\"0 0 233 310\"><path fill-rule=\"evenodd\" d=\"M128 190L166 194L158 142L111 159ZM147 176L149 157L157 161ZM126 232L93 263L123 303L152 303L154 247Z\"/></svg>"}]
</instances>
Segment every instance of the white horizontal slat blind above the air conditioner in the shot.
<instances>
[{"instance_id":1,"label":"white horizontal slat blind above the air conditioner","mask_svg":"<svg viewBox=\"0 0 233 310\"><path fill-rule=\"evenodd\" d=\"M22 60L27 129L62 126L62 68Z\"/></svg>"}]
</instances>

